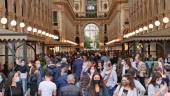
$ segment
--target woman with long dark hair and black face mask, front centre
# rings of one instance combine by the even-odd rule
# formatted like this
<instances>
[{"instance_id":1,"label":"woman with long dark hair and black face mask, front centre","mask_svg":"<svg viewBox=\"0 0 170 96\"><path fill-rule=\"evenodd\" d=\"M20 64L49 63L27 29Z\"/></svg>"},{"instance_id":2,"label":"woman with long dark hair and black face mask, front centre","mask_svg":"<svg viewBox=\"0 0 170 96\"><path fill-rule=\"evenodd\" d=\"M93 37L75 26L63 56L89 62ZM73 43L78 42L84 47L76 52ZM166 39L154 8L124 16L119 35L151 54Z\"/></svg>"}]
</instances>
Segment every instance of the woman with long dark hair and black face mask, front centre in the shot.
<instances>
[{"instance_id":1,"label":"woman with long dark hair and black face mask, front centre","mask_svg":"<svg viewBox=\"0 0 170 96\"><path fill-rule=\"evenodd\" d=\"M89 92L89 96L108 96L107 88L98 72L95 72L92 76Z\"/></svg>"}]
</instances>

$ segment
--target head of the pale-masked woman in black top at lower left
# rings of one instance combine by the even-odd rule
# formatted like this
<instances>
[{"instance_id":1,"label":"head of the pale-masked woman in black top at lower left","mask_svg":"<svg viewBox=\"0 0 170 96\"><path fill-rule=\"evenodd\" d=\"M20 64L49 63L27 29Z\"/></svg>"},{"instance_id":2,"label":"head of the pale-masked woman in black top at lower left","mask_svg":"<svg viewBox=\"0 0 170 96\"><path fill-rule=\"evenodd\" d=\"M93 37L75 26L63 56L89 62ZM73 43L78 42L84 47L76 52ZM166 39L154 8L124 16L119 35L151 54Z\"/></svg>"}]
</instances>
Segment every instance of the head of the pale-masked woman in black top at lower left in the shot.
<instances>
[{"instance_id":1,"label":"head of the pale-masked woman in black top at lower left","mask_svg":"<svg viewBox=\"0 0 170 96\"><path fill-rule=\"evenodd\" d=\"M11 86L12 83L17 83L20 81L19 73L18 72L11 72L8 75L8 81L6 86Z\"/></svg>"}]
</instances>

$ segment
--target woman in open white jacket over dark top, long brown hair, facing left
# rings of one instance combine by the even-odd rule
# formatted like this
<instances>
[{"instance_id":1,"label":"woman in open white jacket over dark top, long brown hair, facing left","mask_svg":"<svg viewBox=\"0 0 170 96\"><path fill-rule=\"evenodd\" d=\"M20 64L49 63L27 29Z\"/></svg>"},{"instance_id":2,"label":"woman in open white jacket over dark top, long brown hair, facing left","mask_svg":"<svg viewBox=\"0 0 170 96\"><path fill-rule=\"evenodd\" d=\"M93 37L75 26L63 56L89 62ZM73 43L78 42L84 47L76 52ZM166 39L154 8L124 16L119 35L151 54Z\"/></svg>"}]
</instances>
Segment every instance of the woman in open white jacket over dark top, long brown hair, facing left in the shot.
<instances>
[{"instance_id":1,"label":"woman in open white jacket over dark top, long brown hair, facing left","mask_svg":"<svg viewBox=\"0 0 170 96\"><path fill-rule=\"evenodd\" d=\"M113 96L137 96L137 90L131 75L126 74L123 76L122 82L116 88Z\"/></svg>"}]
</instances>

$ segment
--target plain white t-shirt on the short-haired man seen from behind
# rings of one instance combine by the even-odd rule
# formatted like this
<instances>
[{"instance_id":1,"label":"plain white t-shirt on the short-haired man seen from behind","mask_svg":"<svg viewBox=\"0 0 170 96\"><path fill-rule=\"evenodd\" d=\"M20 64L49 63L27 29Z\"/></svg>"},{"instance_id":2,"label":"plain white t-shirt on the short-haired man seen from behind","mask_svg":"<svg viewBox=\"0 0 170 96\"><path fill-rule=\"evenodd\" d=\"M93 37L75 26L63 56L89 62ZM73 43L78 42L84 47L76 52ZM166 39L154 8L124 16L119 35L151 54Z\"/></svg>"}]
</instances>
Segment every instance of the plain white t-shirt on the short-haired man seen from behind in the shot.
<instances>
[{"instance_id":1,"label":"plain white t-shirt on the short-haired man seen from behind","mask_svg":"<svg viewBox=\"0 0 170 96\"><path fill-rule=\"evenodd\" d=\"M40 90L41 96L52 96L53 92L57 90L57 87L51 81L42 81L39 84L38 90Z\"/></svg>"}]
</instances>

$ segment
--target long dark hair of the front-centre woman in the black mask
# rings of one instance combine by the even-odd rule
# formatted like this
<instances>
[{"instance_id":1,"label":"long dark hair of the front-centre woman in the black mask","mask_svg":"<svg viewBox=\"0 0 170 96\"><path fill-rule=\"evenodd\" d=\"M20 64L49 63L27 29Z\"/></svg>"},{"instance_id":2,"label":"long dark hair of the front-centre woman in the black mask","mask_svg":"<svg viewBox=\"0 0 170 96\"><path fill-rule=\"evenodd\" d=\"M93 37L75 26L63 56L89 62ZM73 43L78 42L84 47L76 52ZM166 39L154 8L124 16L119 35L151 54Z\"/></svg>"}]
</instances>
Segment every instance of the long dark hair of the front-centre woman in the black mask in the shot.
<instances>
[{"instance_id":1,"label":"long dark hair of the front-centre woman in the black mask","mask_svg":"<svg viewBox=\"0 0 170 96\"><path fill-rule=\"evenodd\" d=\"M90 93L91 93L91 96L96 96L95 83L94 83L94 76L96 76L96 75L99 75L99 76L100 76L100 81L99 81L99 87L100 87L100 89L102 89L102 88L105 86L105 84L104 84L104 82L103 82L103 79L102 79L102 76L100 75L100 73L95 72L95 73L93 74L92 80L91 80L91 82L90 82Z\"/></svg>"}]
</instances>

